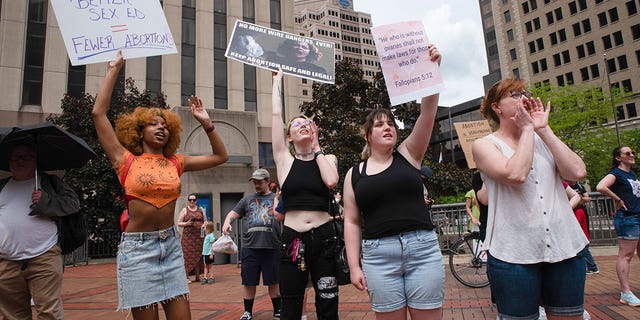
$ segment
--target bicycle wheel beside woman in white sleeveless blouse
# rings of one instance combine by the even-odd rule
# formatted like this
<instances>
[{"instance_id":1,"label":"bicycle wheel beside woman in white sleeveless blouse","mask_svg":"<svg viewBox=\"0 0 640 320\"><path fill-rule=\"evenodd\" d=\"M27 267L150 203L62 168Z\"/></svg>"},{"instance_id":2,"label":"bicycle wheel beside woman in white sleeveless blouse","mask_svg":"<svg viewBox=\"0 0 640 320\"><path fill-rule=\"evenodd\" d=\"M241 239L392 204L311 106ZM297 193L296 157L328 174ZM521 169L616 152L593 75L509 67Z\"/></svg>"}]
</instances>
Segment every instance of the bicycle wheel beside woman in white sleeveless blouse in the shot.
<instances>
[{"instance_id":1,"label":"bicycle wheel beside woman in white sleeveless blouse","mask_svg":"<svg viewBox=\"0 0 640 320\"><path fill-rule=\"evenodd\" d=\"M451 274L463 285L482 288L489 285L486 253L480 251L480 234L466 234L449 249Z\"/></svg>"}]
</instances>

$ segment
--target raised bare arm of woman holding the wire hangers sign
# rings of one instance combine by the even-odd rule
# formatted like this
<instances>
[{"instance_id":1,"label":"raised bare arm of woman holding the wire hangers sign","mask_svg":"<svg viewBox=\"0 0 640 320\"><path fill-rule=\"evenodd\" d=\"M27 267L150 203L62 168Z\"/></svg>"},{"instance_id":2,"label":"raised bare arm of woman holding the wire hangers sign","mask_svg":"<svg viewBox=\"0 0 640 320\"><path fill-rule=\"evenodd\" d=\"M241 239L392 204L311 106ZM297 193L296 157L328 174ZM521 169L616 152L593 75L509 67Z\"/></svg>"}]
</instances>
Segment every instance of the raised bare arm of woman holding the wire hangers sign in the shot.
<instances>
[{"instance_id":1,"label":"raised bare arm of woman holding the wire hangers sign","mask_svg":"<svg viewBox=\"0 0 640 320\"><path fill-rule=\"evenodd\" d=\"M293 156L289 153L284 136L284 125L282 123L282 69L273 75L271 91L271 147L273 160L276 163L278 181L284 180L293 163Z\"/></svg>"}]
</instances>

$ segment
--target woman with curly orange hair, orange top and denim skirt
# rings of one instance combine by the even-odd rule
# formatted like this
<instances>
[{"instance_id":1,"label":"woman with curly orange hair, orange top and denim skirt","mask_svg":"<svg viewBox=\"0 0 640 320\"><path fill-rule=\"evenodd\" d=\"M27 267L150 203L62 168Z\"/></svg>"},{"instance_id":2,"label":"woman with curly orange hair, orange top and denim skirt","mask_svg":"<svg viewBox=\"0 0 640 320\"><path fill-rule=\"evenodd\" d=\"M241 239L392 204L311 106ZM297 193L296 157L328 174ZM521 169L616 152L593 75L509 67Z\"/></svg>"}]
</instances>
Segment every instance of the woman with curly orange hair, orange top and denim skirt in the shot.
<instances>
[{"instance_id":1,"label":"woman with curly orange hair, orange top and denim skirt","mask_svg":"<svg viewBox=\"0 0 640 320\"><path fill-rule=\"evenodd\" d=\"M158 303L167 319L190 319L189 287L184 277L180 237L174 225L180 175L227 161L224 143L202 101L189 98L191 114L211 143L210 155L176 154L182 127L170 110L138 107L116 121L107 118L113 86L124 65L122 53L109 63L93 106L93 122L109 161L124 181L129 223L118 248L118 309L134 319L157 319Z\"/></svg>"}]
</instances>

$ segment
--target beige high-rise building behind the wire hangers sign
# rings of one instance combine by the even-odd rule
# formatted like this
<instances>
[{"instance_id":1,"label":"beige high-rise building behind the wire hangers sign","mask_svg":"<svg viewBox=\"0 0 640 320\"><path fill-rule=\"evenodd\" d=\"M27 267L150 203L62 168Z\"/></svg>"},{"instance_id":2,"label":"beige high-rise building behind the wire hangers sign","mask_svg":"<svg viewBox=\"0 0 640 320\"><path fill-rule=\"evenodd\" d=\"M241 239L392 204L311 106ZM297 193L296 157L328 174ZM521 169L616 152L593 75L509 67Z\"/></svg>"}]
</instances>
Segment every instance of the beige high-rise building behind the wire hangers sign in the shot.
<instances>
[{"instance_id":1,"label":"beige high-rise building behind the wire hangers sign","mask_svg":"<svg viewBox=\"0 0 640 320\"><path fill-rule=\"evenodd\" d=\"M371 15L353 9L351 0L294 0L295 33L334 42L336 61L360 65L364 78L373 80L380 63L371 36ZM311 101L313 82L300 79L300 102Z\"/></svg>"}]
</instances>

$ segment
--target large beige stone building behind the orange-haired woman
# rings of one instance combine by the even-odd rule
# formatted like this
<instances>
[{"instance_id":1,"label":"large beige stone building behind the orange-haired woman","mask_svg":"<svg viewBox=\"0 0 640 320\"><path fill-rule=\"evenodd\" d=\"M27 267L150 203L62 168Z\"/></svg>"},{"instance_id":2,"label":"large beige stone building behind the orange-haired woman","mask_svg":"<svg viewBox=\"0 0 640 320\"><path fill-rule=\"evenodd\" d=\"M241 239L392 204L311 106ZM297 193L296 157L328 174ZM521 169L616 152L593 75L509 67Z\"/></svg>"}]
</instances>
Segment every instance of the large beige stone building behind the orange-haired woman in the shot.
<instances>
[{"instance_id":1,"label":"large beige stone building behind the orange-haired woman","mask_svg":"<svg viewBox=\"0 0 640 320\"><path fill-rule=\"evenodd\" d=\"M293 2L281 0L164 0L177 54L130 59L122 78L139 89L164 92L183 119L180 152L210 152L206 136L186 106L191 94L202 98L222 135L230 161L183 176L183 195L196 193L220 228L221 217L247 192L251 172L266 167L271 155L271 72L224 57L236 19L294 32ZM102 2L106 3L106 2ZM0 126L44 121L61 112L63 94L95 94L107 63L73 67L69 63L53 9L47 0L0 0ZM298 79L286 77L286 119L298 113ZM181 107L182 106L182 107ZM90 110L87 110L90 112Z\"/></svg>"}]
</instances>

